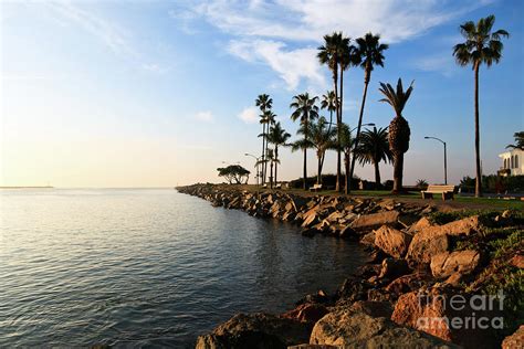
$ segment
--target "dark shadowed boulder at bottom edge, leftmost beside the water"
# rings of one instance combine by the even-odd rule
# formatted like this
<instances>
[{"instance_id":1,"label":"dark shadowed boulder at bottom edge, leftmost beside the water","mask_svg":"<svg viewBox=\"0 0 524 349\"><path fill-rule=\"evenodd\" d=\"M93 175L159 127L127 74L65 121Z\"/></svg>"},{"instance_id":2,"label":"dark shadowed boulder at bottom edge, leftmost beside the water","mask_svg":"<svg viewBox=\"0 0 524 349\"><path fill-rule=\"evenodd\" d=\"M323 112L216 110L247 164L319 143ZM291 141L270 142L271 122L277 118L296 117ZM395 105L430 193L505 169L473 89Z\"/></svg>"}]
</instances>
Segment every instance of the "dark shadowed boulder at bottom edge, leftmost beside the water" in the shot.
<instances>
[{"instance_id":1,"label":"dark shadowed boulder at bottom edge, leftmost beside the water","mask_svg":"<svg viewBox=\"0 0 524 349\"><path fill-rule=\"evenodd\" d=\"M307 342L308 328L306 324L274 315L238 314L212 334L198 337L196 348L286 348Z\"/></svg>"}]
</instances>

